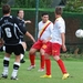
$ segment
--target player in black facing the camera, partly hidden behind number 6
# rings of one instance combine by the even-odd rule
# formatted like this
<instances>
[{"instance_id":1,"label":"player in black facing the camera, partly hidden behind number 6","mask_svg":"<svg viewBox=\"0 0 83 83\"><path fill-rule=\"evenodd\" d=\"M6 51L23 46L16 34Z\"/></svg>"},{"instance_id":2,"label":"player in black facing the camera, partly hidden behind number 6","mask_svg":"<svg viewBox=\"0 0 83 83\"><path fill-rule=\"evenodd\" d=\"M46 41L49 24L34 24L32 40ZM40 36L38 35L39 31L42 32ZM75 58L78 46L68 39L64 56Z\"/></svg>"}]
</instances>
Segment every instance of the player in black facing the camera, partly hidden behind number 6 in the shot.
<instances>
[{"instance_id":1,"label":"player in black facing the camera, partly hidden behind number 6","mask_svg":"<svg viewBox=\"0 0 83 83\"><path fill-rule=\"evenodd\" d=\"M18 10L18 20L19 20L19 22L22 27L25 27L25 23L31 23L31 21L30 20L24 21L23 17L24 17L24 11ZM21 38L22 45L23 45L23 49L24 49L24 51L21 53L21 61L20 62L24 63L25 61L24 61L23 56L24 56L24 52L27 50L27 44L24 42L23 34L20 34L20 38Z\"/></svg>"}]
</instances>

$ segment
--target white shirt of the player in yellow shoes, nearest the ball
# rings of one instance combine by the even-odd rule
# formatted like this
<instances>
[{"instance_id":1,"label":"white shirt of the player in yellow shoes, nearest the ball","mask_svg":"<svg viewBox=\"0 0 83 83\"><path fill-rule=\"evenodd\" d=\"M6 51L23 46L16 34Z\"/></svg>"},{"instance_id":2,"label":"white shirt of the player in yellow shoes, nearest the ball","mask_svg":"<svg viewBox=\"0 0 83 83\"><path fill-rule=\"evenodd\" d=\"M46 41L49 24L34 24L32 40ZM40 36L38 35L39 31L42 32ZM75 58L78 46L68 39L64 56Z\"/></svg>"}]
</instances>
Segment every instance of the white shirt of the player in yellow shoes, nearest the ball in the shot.
<instances>
[{"instance_id":1,"label":"white shirt of the player in yellow shoes, nearest the ball","mask_svg":"<svg viewBox=\"0 0 83 83\"><path fill-rule=\"evenodd\" d=\"M52 31L52 39L50 41L62 44L61 33L65 33L65 22L62 17L55 20Z\"/></svg>"}]
</instances>

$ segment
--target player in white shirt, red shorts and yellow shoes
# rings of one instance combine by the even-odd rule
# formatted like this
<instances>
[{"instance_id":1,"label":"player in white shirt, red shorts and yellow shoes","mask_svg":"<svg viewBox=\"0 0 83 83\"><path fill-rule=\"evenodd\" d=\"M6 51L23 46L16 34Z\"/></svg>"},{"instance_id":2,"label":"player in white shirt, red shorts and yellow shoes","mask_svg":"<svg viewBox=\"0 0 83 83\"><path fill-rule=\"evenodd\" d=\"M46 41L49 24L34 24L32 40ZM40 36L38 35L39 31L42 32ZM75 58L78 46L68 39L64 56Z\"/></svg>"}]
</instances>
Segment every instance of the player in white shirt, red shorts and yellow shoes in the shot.
<instances>
[{"instance_id":1,"label":"player in white shirt, red shorts and yellow shoes","mask_svg":"<svg viewBox=\"0 0 83 83\"><path fill-rule=\"evenodd\" d=\"M70 75L64 66L63 61L60 59L61 48L63 51L66 51L65 22L63 18L61 17L61 14L62 14L62 9L58 7L55 9L55 22L54 22L54 27L52 31L52 37L45 50L45 71L46 73L45 75L42 75L41 77L52 77L50 55L53 56L53 59L56 61L58 65L60 66L62 74L63 74L62 80L68 79Z\"/></svg>"}]
</instances>

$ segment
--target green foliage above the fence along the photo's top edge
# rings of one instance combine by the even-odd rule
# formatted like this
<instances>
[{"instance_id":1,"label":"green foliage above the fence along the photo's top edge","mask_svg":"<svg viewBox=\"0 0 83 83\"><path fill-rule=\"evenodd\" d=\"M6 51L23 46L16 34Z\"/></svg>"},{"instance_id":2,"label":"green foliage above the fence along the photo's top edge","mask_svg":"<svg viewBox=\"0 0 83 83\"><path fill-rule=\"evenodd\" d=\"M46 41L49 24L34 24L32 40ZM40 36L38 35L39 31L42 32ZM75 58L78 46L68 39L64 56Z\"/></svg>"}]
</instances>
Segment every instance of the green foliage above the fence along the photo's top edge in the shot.
<instances>
[{"instance_id":1,"label":"green foliage above the fence along the photo's top edge","mask_svg":"<svg viewBox=\"0 0 83 83\"><path fill-rule=\"evenodd\" d=\"M56 1L56 0L55 0ZM54 0L39 0L39 8L52 8ZM83 0L62 0L64 11L83 12ZM35 8L37 0L0 0L0 6L9 3L13 8Z\"/></svg>"}]
</instances>

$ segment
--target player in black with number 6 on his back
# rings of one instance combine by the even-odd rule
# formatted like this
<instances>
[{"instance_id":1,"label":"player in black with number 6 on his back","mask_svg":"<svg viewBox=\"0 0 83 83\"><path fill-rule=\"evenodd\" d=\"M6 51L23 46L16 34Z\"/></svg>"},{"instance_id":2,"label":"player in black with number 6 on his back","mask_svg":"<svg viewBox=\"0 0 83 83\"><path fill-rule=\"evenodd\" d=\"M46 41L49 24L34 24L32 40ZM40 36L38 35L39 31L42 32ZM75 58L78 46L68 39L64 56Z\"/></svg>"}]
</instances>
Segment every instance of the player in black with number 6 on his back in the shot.
<instances>
[{"instance_id":1,"label":"player in black with number 6 on his back","mask_svg":"<svg viewBox=\"0 0 83 83\"><path fill-rule=\"evenodd\" d=\"M6 54L3 59L3 72L1 77L7 79L9 73L9 61L11 53L15 54L11 80L18 80L18 71L20 68L20 54L23 51L20 33L28 35L33 42L33 37L21 27L19 20L10 15L11 9L9 4L2 6L3 17L0 19L0 39L3 39L6 45Z\"/></svg>"}]
</instances>

